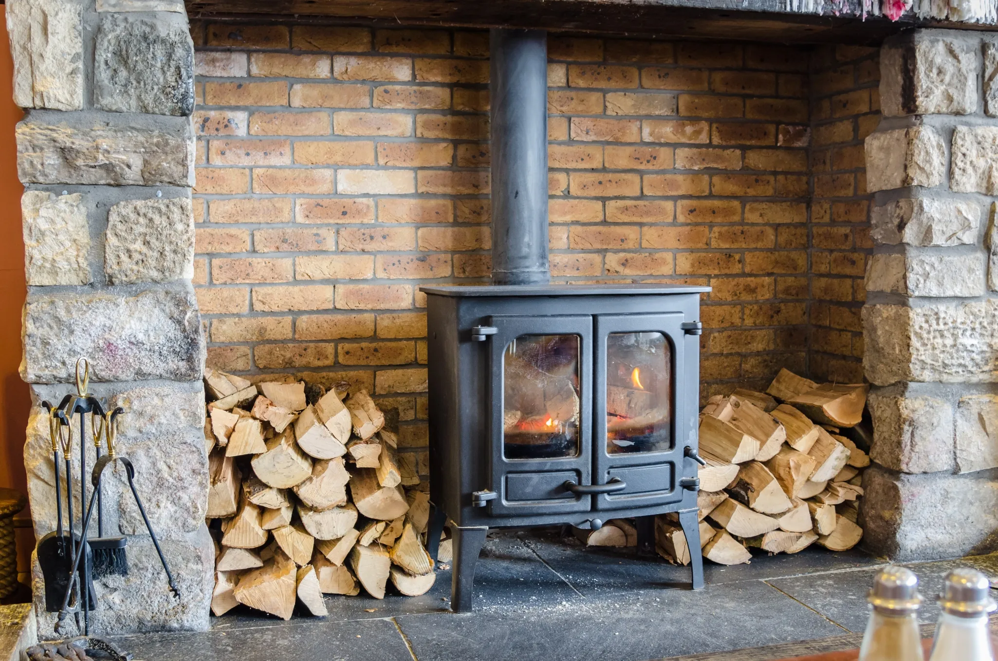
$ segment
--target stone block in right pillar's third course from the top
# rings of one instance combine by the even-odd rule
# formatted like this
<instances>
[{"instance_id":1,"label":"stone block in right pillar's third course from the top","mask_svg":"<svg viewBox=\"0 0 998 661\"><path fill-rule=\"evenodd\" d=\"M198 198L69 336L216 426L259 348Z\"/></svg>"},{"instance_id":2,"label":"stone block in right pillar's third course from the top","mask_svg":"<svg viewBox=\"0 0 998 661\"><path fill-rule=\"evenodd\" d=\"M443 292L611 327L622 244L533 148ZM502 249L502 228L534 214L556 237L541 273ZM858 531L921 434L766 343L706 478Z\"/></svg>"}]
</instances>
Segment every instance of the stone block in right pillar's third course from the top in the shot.
<instances>
[{"instance_id":1,"label":"stone block in right pillar's third course from the top","mask_svg":"<svg viewBox=\"0 0 998 661\"><path fill-rule=\"evenodd\" d=\"M972 246L980 223L981 208L974 202L895 200L870 212L870 237L890 246Z\"/></svg>"}]
</instances>

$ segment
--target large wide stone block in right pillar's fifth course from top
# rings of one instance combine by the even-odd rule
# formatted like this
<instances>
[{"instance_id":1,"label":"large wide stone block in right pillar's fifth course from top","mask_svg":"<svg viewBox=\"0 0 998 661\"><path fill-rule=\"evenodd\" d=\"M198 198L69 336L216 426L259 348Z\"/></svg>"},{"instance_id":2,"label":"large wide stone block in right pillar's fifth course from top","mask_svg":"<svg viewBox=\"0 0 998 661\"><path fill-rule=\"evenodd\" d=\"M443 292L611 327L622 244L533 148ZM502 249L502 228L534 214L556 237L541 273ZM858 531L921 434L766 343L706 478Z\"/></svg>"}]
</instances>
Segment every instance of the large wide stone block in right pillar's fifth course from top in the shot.
<instances>
[{"instance_id":1,"label":"large wide stone block in right pillar's fifth course from top","mask_svg":"<svg viewBox=\"0 0 998 661\"><path fill-rule=\"evenodd\" d=\"M897 381L998 381L998 301L867 305L863 370L876 385Z\"/></svg>"}]
</instances>

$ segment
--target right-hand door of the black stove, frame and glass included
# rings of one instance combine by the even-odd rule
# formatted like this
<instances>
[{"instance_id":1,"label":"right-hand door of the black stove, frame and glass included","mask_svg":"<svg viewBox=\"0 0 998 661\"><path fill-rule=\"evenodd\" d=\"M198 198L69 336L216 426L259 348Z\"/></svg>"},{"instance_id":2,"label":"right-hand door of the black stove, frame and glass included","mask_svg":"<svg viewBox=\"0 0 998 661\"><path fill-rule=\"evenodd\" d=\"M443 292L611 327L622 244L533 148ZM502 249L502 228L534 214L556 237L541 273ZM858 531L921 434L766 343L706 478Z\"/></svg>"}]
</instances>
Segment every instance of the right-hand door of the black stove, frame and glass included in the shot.
<instances>
[{"instance_id":1,"label":"right-hand door of the black stove, frame and glass included","mask_svg":"<svg viewBox=\"0 0 998 661\"><path fill-rule=\"evenodd\" d=\"M683 499L680 425L687 411L683 313L595 317L593 480L623 489L596 509Z\"/></svg>"}]
</instances>

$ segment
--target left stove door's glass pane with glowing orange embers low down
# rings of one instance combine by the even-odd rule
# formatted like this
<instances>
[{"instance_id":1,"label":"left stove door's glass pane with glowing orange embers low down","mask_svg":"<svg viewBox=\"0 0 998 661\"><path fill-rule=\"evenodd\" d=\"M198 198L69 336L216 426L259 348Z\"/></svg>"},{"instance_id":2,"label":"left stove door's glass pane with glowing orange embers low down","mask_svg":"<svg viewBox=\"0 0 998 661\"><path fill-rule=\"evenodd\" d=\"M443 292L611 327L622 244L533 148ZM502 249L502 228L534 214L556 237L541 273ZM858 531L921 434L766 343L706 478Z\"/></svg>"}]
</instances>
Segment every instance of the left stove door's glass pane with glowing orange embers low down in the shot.
<instances>
[{"instance_id":1,"label":"left stove door's glass pane with glowing orange embers low down","mask_svg":"<svg viewBox=\"0 0 998 661\"><path fill-rule=\"evenodd\" d=\"M503 452L507 459L579 454L576 334L520 335L503 353Z\"/></svg>"}]
</instances>

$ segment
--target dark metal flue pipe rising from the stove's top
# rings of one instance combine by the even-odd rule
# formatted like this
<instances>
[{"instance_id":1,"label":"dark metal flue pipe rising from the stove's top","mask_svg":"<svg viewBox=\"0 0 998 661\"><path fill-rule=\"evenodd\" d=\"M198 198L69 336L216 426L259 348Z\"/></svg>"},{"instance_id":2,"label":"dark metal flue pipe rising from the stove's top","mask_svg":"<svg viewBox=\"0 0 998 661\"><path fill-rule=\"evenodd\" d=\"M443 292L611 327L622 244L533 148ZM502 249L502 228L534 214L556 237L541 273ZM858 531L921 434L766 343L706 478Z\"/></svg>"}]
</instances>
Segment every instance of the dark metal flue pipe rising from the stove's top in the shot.
<instances>
[{"instance_id":1,"label":"dark metal flue pipe rising from the stove's top","mask_svg":"<svg viewBox=\"0 0 998 661\"><path fill-rule=\"evenodd\" d=\"M548 40L491 31L492 283L547 285Z\"/></svg>"}]
</instances>

